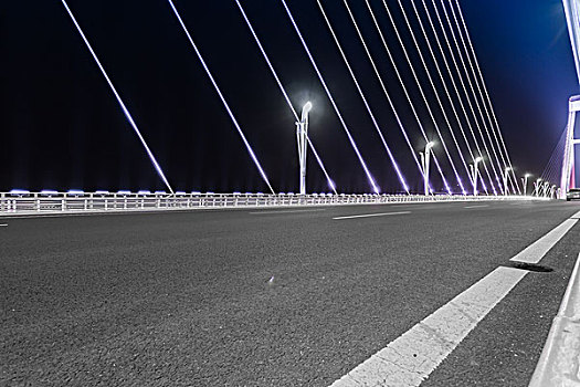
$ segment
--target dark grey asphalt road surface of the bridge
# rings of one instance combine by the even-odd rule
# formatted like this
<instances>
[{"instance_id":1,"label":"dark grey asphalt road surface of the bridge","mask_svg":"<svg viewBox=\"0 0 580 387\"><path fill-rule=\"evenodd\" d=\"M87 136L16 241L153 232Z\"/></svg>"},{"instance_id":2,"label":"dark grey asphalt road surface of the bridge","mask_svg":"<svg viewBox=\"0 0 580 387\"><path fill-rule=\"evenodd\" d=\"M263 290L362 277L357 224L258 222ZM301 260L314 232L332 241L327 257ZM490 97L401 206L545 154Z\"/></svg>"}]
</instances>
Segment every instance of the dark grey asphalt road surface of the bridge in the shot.
<instances>
[{"instance_id":1,"label":"dark grey asphalt road surface of the bridge","mask_svg":"<svg viewBox=\"0 0 580 387\"><path fill-rule=\"evenodd\" d=\"M329 386L580 210L453 202L0 218L0 386ZM527 386L574 226L422 386Z\"/></svg>"}]
</instances>

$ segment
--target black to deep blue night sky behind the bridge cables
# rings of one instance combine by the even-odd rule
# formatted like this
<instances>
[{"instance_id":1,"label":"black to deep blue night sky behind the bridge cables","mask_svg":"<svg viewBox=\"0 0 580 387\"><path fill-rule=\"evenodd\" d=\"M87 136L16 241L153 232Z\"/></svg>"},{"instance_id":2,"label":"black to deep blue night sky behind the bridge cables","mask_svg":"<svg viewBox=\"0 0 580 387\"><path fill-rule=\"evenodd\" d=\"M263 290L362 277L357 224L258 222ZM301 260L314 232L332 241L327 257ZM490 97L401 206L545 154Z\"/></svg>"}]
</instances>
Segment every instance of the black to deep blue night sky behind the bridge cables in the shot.
<instances>
[{"instance_id":1,"label":"black to deep blue night sky behind the bridge cables","mask_svg":"<svg viewBox=\"0 0 580 387\"><path fill-rule=\"evenodd\" d=\"M415 23L409 1L403 4ZM231 0L175 3L274 189L297 190L294 116L238 7ZM287 3L378 185L400 191L316 1ZM349 3L419 150L424 142L365 2ZM388 3L443 127L397 2ZM295 107L313 102L310 138L338 190L370 191L282 3L243 4ZM324 4L403 174L412 190L420 190L411 153L342 2ZM371 4L432 136L384 8L379 0ZM176 190L267 191L166 0L70 0L68 6ZM538 175L566 124L567 100L578 92L561 1L462 0L462 7L514 166ZM422 39L420 44L429 55ZM0 52L0 191L165 188L61 1L2 1ZM445 140L454 149L449 136ZM434 151L456 189L441 145ZM452 157L467 180L455 150ZM328 190L312 154L307 182L310 191ZM435 174L433 185L442 189Z\"/></svg>"}]
</instances>

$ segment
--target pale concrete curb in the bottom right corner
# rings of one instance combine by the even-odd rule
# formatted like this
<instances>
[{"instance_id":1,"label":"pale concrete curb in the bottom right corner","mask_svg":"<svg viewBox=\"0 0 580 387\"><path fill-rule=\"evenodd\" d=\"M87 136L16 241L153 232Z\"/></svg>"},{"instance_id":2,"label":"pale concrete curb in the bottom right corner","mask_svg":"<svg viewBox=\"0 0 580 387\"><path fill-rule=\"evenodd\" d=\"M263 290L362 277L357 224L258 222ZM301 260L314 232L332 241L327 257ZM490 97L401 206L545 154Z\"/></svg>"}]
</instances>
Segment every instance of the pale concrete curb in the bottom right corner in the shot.
<instances>
[{"instance_id":1,"label":"pale concrete curb in the bottom right corner","mask_svg":"<svg viewBox=\"0 0 580 387\"><path fill-rule=\"evenodd\" d=\"M580 386L580 254L529 387Z\"/></svg>"}]
</instances>

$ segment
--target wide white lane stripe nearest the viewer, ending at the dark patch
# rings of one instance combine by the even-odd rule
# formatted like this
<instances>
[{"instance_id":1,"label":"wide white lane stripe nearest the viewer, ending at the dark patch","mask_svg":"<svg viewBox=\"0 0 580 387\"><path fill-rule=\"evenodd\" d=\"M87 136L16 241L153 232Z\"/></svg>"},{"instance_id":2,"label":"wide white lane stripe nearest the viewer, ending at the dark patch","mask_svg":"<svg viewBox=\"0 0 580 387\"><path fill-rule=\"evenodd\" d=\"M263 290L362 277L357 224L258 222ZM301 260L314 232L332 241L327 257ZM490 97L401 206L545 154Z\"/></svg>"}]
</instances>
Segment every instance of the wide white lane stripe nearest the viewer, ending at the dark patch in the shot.
<instances>
[{"instance_id":1,"label":"wide white lane stripe nearest the viewer, ending at the dark patch","mask_svg":"<svg viewBox=\"0 0 580 387\"><path fill-rule=\"evenodd\" d=\"M331 387L419 386L527 273L497 268Z\"/></svg>"}]
</instances>

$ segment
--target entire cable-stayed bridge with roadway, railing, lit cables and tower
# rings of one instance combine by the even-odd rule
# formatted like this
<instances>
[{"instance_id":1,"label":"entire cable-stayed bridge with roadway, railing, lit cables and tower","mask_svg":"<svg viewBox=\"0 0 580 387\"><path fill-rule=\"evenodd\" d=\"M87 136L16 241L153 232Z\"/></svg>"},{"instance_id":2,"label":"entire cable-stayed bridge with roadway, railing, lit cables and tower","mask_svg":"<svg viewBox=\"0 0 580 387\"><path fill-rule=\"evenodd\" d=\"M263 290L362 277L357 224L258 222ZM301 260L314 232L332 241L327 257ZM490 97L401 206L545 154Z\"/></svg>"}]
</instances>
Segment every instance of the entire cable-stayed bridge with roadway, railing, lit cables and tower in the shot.
<instances>
[{"instance_id":1,"label":"entire cable-stayed bridge with roadway, railing, lit cables and tower","mask_svg":"<svg viewBox=\"0 0 580 387\"><path fill-rule=\"evenodd\" d=\"M321 91L313 101L293 94L288 64L260 28L264 14L231 1L249 54L275 86L265 97L295 123L280 128L297 149L295 192L282 192L235 103L249 91L222 81L188 3L159 1L262 191L183 190L89 19L57 1L164 188L0 192L1 386L580 383L580 208L550 200L573 186L574 98L532 176L512 161L458 0L316 0L325 35L307 32L299 1L276 0L274 22ZM577 2L563 3L576 50ZM355 124L352 100L368 125ZM347 167L328 163L320 106L354 160ZM373 172L368 138L390 177Z\"/></svg>"}]
</instances>

